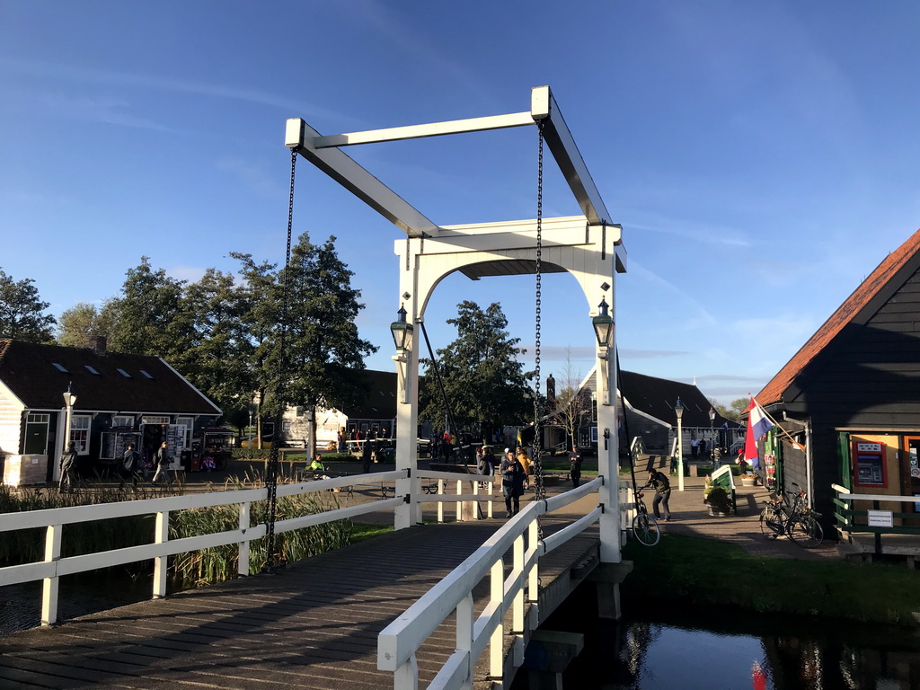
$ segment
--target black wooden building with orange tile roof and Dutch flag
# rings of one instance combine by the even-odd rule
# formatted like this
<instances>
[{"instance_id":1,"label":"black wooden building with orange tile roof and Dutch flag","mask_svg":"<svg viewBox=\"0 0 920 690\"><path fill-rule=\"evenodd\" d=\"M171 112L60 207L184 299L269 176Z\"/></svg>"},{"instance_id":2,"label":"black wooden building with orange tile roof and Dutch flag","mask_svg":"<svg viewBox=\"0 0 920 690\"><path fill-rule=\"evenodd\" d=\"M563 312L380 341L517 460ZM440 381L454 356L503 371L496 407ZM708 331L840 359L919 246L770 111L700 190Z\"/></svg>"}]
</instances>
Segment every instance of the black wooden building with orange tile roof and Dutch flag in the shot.
<instances>
[{"instance_id":1,"label":"black wooden building with orange tile roof and Dutch flag","mask_svg":"<svg viewBox=\"0 0 920 690\"><path fill-rule=\"evenodd\" d=\"M828 520L838 484L853 493L920 496L920 230L891 252L757 394L796 443L776 432L777 489L795 482ZM874 505L873 505L874 504ZM895 528L920 525L917 502L855 501L903 513ZM917 514L914 519L911 517Z\"/></svg>"}]
</instances>

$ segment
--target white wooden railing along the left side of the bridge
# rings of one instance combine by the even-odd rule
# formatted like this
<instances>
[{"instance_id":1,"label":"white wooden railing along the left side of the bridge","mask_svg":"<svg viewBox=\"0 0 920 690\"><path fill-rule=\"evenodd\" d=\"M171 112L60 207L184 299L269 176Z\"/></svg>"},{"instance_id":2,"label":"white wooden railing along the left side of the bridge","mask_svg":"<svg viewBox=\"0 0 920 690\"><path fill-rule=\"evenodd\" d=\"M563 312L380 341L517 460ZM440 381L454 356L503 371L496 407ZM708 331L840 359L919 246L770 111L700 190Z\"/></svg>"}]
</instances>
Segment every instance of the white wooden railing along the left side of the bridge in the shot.
<instances>
[{"instance_id":1,"label":"white wooden railing along the left side of the bridge","mask_svg":"<svg viewBox=\"0 0 920 690\"><path fill-rule=\"evenodd\" d=\"M408 476L406 470L393 470L389 472L376 472L368 475L353 475L349 477L335 477L317 479L314 481L281 484L276 489L278 498L297 496L301 494L316 493L333 489L347 489L373 483L383 486L384 482L404 479ZM420 503L438 503L439 522L443 522L444 503L456 502L457 519L460 519L463 501L488 500L488 514L491 517L490 493L492 484L489 477L479 475L459 475L444 472L419 471L420 480L435 479L438 482L438 494L426 495L422 492L416 501ZM445 493L448 481L455 483L456 495ZM479 493L480 482L488 493ZM463 485L472 483L473 492L464 493ZM251 505L260 500L268 500L268 489L239 489L215 491L213 493L189 494L185 496L170 496L159 499L126 500L118 503L98 503L86 506L72 506L68 508L54 508L44 511L7 512L0 514L0 538L5 532L24 529L45 529L45 558L34 563L0 568L0 587L21 582L42 581L41 593L41 625L49 626L57 622L59 579L63 575L73 575L79 572L109 568L112 566L136 563L142 560L154 561L153 597L155 599L166 596L167 593L167 559L176 554L197 551L202 548L226 546L236 544L239 549L238 574L249 574L249 543L253 539L260 539L268 534L265 523L250 524ZM358 505L345 508L302 515L275 523L275 533L281 534L291 530L311 527L317 524L330 523L337 520L347 520L369 512L394 510L405 503L401 496L371 500ZM227 532L215 532L206 535L188 536L180 539L169 539L169 514L177 511L187 511L195 508L207 508L222 505L237 505L239 507L239 527ZM154 515L155 528L153 541L141 546L99 551L81 556L61 558L61 543L65 525L86 523L95 520L109 520L130 517L135 515ZM477 511L471 515L477 517Z\"/></svg>"}]
</instances>

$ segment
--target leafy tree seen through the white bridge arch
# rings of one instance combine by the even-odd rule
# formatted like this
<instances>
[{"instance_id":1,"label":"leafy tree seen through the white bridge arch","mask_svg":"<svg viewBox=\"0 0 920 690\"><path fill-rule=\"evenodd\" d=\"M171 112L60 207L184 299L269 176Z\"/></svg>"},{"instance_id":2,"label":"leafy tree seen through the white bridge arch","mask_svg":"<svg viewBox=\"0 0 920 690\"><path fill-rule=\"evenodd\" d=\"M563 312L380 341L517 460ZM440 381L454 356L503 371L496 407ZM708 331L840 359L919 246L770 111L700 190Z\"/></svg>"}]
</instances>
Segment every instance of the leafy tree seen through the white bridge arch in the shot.
<instances>
[{"instance_id":1,"label":"leafy tree seen through the white bridge arch","mask_svg":"<svg viewBox=\"0 0 920 690\"><path fill-rule=\"evenodd\" d=\"M461 302L456 318L447 323L457 328L457 338L438 350L437 357L456 423L490 434L504 425L533 420L534 392L528 384L533 373L525 373L523 363L518 362L521 339L509 334L500 305L492 303L483 311L475 302ZM443 420L447 409L432 362L423 359L421 363L425 367L421 417Z\"/></svg>"}]
</instances>

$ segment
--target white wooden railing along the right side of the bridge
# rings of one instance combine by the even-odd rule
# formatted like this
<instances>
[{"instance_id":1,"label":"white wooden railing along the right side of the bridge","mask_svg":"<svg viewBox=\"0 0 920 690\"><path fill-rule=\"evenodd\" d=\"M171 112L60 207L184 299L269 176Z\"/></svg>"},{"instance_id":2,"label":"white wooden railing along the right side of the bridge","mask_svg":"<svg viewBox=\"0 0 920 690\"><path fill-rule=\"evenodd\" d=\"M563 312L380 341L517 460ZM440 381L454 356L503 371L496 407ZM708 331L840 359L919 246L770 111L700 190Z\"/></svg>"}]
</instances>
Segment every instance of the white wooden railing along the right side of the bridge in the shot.
<instances>
[{"instance_id":1,"label":"white wooden railing along the right side of the bridge","mask_svg":"<svg viewBox=\"0 0 920 690\"><path fill-rule=\"evenodd\" d=\"M456 612L456 649L429 687L471 687L473 670L487 648L489 675L501 677L506 613L511 610L512 632L517 638L516 644L523 646L525 625L526 629L533 629L538 622L540 558L597 522L602 509L598 505L542 541L537 538L537 518L597 492L603 483L604 477L597 477L578 489L534 501L523 508L450 575L385 627L377 638L377 668L394 673L397 690L418 688L416 654L443 620ZM524 535L527 535L526 542ZM506 578L502 556L508 549L512 549L512 569ZM489 601L476 616L473 589L487 577ZM525 600L531 604L527 621L524 620ZM523 649L520 651L523 654Z\"/></svg>"}]
</instances>

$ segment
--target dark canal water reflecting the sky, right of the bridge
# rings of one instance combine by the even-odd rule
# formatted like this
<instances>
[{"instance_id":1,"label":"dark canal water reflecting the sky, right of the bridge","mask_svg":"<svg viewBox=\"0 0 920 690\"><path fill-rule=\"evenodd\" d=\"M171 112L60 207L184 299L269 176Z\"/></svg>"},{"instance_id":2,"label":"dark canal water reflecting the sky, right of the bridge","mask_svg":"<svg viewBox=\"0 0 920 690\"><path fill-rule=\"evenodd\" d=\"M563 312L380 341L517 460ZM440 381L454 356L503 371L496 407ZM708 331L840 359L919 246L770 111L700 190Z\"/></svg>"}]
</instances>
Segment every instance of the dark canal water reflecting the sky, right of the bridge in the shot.
<instances>
[{"instance_id":1,"label":"dark canal water reflecting the sky, right of the bridge","mask_svg":"<svg viewBox=\"0 0 920 690\"><path fill-rule=\"evenodd\" d=\"M569 615L558 615L547 626L585 635L584 650L563 675L566 688L920 688L920 637L914 629L712 608L645 608L613 625L583 615L593 610L590 597L575 604ZM570 615L571 610L581 616ZM514 688L530 686L526 673L518 675Z\"/></svg>"}]
</instances>

